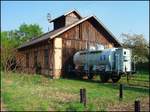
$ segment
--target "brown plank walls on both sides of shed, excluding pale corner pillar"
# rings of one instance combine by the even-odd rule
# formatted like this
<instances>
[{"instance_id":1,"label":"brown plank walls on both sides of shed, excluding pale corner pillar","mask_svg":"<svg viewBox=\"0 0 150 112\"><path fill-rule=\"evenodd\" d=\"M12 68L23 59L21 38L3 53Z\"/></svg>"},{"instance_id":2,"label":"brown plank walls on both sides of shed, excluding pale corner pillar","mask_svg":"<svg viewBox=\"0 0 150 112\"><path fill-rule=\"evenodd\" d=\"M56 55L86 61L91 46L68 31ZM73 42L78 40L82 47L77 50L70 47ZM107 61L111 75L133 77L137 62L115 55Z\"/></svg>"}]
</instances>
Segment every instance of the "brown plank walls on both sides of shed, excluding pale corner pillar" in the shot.
<instances>
[{"instance_id":1,"label":"brown plank walls on both sides of shed, excluding pale corner pillar","mask_svg":"<svg viewBox=\"0 0 150 112\"><path fill-rule=\"evenodd\" d=\"M87 43L89 39L90 45L103 44L105 47L113 47L113 44L100 33L90 21L85 21L80 25L64 32L59 35L58 38L62 38L62 72L63 74L74 68L73 55L80 50L87 49ZM29 53L29 67L26 67L26 58L24 57L23 66L27 73L35 73L34 68L34 51L38 50L38 62L41 64L41 74L54 75L54 39L48 40L43 44L38 44L32 48L26 48L21 53L26 56ZM57 44L57 43L56 43ZM49 68L44 67L44 49L49 49ZM57 62L56 62L57 63Z\"/></svg>"}]
</instances>

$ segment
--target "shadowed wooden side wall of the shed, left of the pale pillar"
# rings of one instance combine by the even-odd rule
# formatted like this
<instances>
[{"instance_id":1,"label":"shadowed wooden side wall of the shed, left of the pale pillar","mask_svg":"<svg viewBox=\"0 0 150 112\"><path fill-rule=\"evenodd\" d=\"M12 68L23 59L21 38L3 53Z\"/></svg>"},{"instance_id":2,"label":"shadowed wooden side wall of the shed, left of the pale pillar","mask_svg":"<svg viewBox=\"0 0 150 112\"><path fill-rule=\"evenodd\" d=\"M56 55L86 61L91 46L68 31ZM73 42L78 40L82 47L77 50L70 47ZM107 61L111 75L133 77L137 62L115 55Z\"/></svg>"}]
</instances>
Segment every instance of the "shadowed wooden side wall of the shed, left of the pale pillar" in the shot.
<instances>
[{"instance_id":1,"label":"shadowed wooden side wall of the shed, left of the pale pillar","mask_svg":"<svg viewBox=\"0 0 150 112\"><path fill-rule=\"evenodd\" d=\"M44 50L48 49L49 50L49 67L45 67L44 64ZM37 62L40 63L41 65L41 74L44 75L52 75L53 74L53 61L54 61L54 56L53 56L53 40L50 41L50 43L48 44L48 41L40 44L40 45L36 45L32 48L27 48L23 51L19 51L17 57L18 60L21 60L21 69L22 71L26 72L26 73L36 73L36 68L34 66L35 62L34 62L34 52L37 51ZM29 67L26 66L26 54L29 54Z\"/></svg>"}]
</instances>

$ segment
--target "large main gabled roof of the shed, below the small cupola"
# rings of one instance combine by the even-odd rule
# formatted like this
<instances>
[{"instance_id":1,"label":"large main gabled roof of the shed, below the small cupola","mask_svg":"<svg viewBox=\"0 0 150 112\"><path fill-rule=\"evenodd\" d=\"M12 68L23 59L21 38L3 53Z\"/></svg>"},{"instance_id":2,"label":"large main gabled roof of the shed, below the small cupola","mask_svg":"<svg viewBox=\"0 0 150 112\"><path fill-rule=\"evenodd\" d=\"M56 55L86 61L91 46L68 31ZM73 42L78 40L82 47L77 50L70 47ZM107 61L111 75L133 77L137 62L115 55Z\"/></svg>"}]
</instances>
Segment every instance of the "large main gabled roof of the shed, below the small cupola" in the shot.
<instances>
[{"instance_id":1,"label":"large main gabled roof of the shed, below the small cupola","mask_svg":"<svg viewBox=\"0 0 150 112\"><path fill-rule=\"evenodd\" d=\"M64 33L65 31L75 27L76 25L79 25L80 23L82 23L82 22L84 22L86 20L92 20L99 27L103 27L103 29L105 30L106 34L109 36L109 39L112 40L114 43L116 43L118 46L122 46L121 43L119 43L119 41L116 39L116 37L102 24L102 22L100 22L100 20L98 20L96 18L96 16L92 15L92 16L88 16L88 17L82 18L79 21L77 21L77 22L75 22L75 23L73 23L71 25L68 25L68 26L59 28L57 30L53 30L53 31L47 32L45 34L42 34L38 38L36 38L36 39L34 39L32 41L26 42L25 44L21 45L18 49L22 49L22 48L28 47L30 45L34 45L36 43L42 42L42 41L47 40L47 39L53 39L56 36L59 36L60 34Z\"/></svg>"}]
</instances>

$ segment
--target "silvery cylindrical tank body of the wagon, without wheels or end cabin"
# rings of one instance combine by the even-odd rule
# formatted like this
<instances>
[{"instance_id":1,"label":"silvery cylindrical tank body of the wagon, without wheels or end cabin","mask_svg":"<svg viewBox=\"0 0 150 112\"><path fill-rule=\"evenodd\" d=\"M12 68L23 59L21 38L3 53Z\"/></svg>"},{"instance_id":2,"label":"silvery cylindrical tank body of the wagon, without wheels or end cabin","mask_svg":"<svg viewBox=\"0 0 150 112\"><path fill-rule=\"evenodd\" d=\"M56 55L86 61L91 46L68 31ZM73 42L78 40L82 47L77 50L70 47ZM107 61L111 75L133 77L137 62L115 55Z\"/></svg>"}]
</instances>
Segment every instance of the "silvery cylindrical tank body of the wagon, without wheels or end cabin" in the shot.
<instances>
[{"instance_id":1,"label":"silvery cylindrical tank body of the wagon, without wheels or end cabin","mask_svg":"<svg viewBox=\"0 0 150 112\"><path fill-rule=\"evenodd\" d=\"M73 61L74 64L78 66L84 66L86 64L89 66L108 64L113 66L115 49L116 48L103 51L79 51L74 55Z\"/></svg>"}]
</instances>

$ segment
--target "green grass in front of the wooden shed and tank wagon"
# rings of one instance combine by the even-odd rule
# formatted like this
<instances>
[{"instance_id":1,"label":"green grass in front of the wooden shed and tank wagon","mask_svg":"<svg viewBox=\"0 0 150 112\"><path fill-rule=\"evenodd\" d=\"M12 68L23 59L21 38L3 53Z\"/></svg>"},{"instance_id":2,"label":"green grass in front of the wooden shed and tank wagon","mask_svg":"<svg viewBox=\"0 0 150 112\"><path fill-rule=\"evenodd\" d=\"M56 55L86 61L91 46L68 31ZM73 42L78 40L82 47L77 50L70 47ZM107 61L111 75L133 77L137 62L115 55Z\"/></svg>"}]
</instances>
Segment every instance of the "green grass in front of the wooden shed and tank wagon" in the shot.
<instances>
[{"instance_id":1,"label":"green grass in front of the wooden shed and tank wagon","mask_svg":"<svg viewBox=\"0 0 150 112\"><path fill-rule=\"evenodd\" d=\"M140 76L140 77L139 77ZM134 77L147 80L148 75ZM133 81L131 80L130 83ZM120 83L126 83L123 78ZM79 90L87 90L87 106L79 103ZM124 86L119 101L119 85L98 81L46 78L41 75L1 72L1 97L6 110L13 111L83 111L134 110L134 101L141 101L141 109L149 110L149 89Z\"/></svg>"}]
</instances>

